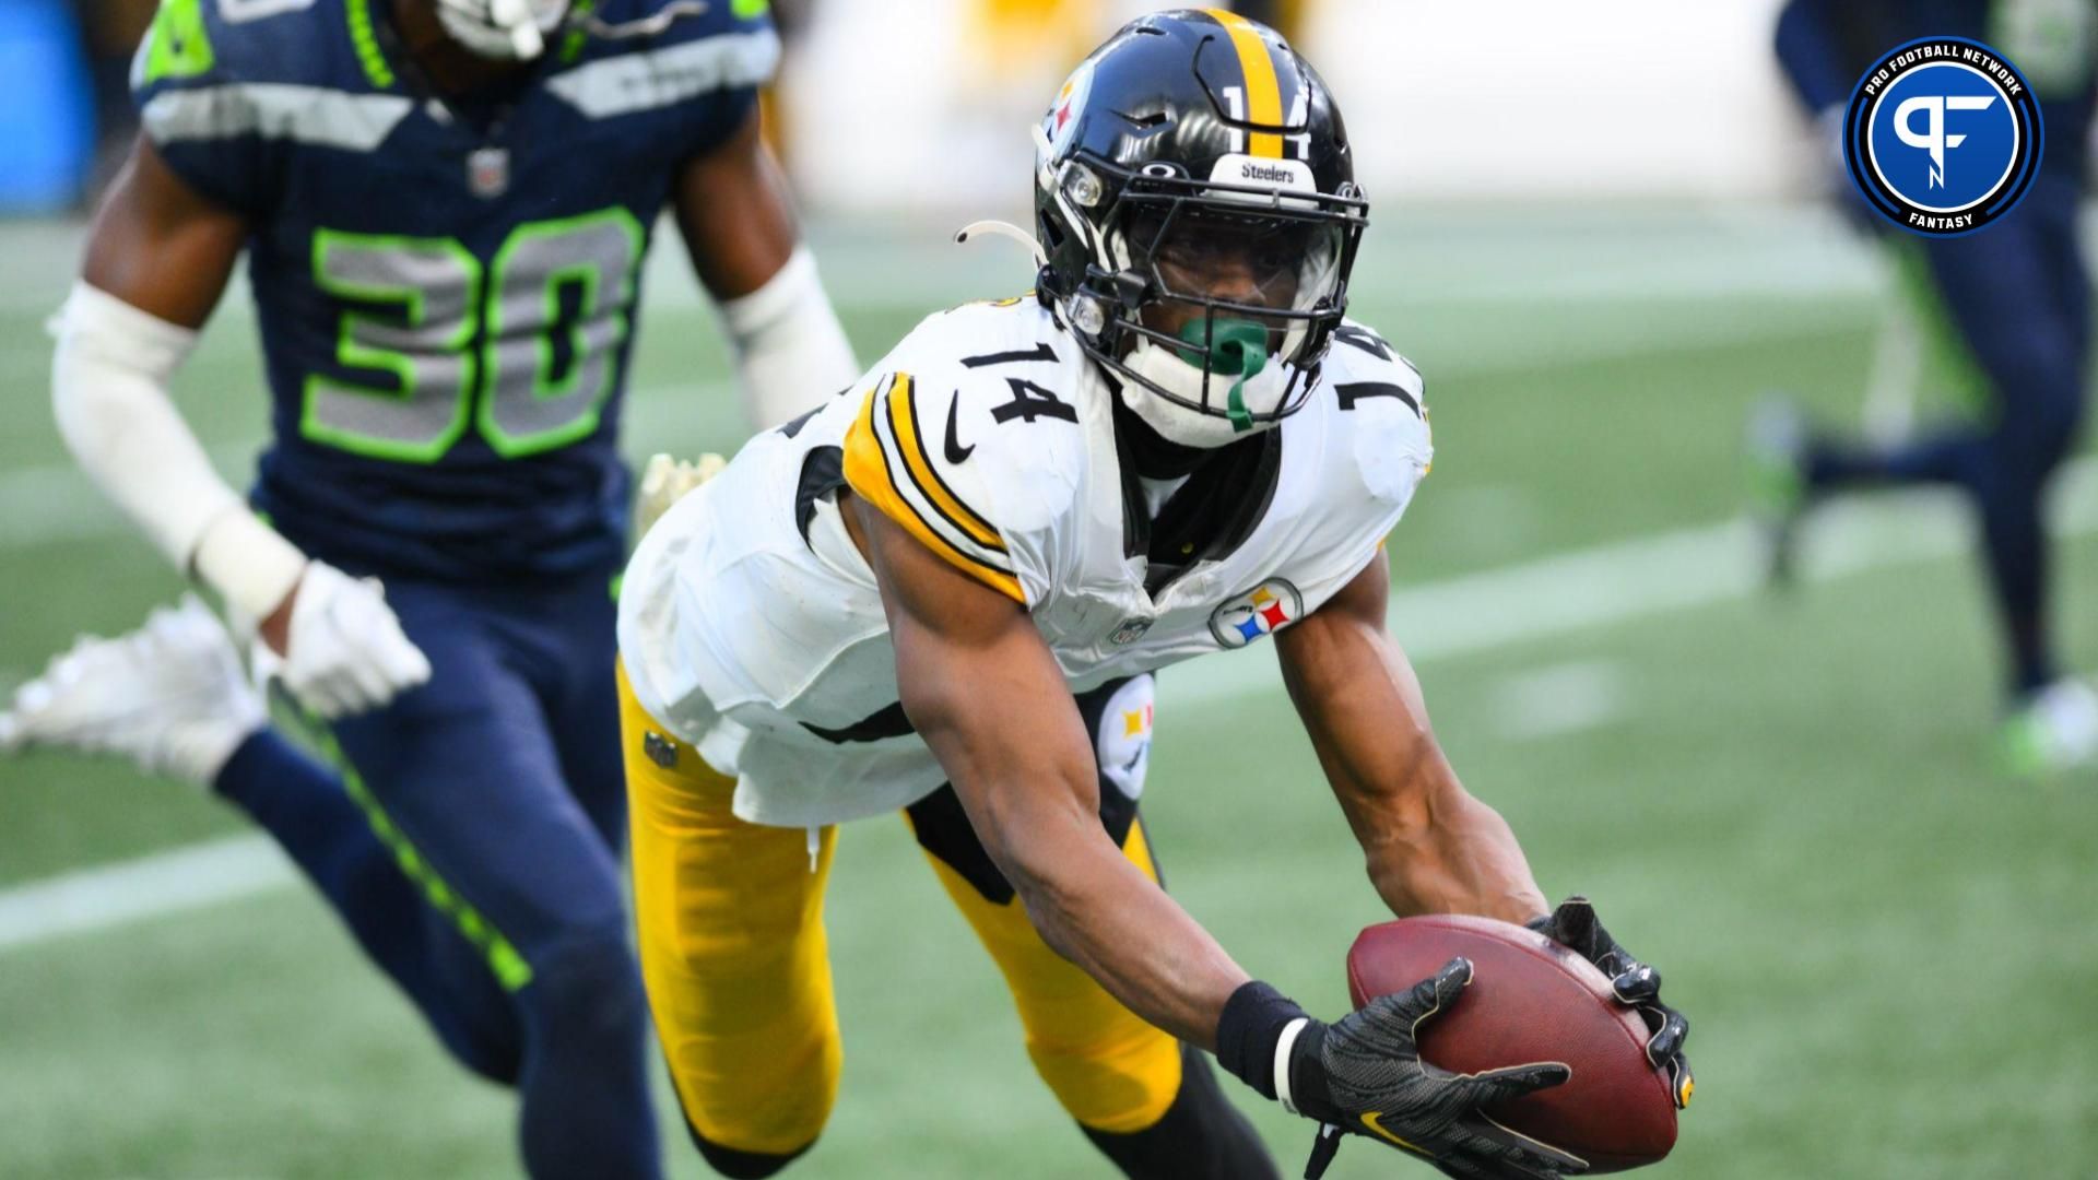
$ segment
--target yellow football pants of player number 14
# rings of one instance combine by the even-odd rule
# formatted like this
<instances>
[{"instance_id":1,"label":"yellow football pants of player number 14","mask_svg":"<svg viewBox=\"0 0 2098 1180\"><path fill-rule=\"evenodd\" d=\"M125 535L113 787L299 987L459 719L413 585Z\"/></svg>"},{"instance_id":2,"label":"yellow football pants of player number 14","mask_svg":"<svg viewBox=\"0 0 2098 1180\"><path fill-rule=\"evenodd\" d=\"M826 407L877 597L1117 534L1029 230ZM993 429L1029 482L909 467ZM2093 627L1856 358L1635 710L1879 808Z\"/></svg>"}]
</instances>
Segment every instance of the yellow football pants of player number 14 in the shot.
<instances>
[{"instance_id":1,"label":"yellow football pants of player number 14","mask_svg":"<svg viewBox=\"0 0 2098 1180\"><path fill-rule=\"evenodd\" d=\"M822 1132L841 1062L822 888L808 834L745 823L734 781L648 718L619 676L642 976L684 1117L707 1142L789 1155ZM1156 880L1143 823L1122 852ZM1137 1132L1179 1094L1179 1044L1049 949L1018 899L994 903L927 855L999 964L1028 1056L1083 1125ZM963 1081L957 1079L957 1086Z\"/></svg>"}]
</instances>

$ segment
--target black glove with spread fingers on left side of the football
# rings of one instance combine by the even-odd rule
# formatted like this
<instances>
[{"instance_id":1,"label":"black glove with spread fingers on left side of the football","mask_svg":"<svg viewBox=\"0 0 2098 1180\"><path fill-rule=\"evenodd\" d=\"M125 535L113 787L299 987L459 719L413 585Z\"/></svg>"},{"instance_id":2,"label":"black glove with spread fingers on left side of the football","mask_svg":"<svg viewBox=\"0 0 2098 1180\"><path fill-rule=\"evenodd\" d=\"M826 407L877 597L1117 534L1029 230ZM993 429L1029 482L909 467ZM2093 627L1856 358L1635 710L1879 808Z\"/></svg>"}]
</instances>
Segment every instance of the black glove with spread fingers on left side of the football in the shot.
<instances>
[{"instance_id":1,"label":"black glove with spread fingers on left side of the football","mask_svg":"<svg viewBox=\"0 0 2098 1180\"><path fill-rule=\"evenodd\" d=\"M1450 960L1408 991L1378 995L1334 1025L1311 1020L1290 1046L1288 1104L1322 1123L1307 1180L1332 1163L1334 1130L1378 1138L1425 1157L1446 1176L1557 1180L1586 1172L1580 1157L1511 1132L1481 1107L1559 1086L1571 1071L1532 1062L1450 1073L1420 1060L1414 1033L1458 1002L1471 962Z\"/></svg>"}]
</instances>

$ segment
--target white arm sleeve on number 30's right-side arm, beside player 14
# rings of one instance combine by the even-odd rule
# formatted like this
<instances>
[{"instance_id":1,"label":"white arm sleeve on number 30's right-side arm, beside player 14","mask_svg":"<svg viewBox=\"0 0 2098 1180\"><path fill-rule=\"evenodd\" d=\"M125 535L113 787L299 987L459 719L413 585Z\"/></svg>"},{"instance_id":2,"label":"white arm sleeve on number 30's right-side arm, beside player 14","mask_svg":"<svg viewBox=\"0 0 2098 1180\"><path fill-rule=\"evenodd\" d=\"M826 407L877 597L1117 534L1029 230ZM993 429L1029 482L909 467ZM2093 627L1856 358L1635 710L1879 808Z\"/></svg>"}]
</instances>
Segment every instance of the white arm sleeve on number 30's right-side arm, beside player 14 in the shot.
<instances>
[{"instance_id":1,"label":"white arm sleeve on number 30's right-side arm, beside player 14","mask_svg":"<svg viewBox=\"0 0 2098 1180\"><path fill-rule=\"evenodd\" d=\"M736 346L743 414L768 430L822 405L860 376L808 246L755 292L720 304Z\"/></svg>"}]
</instances>

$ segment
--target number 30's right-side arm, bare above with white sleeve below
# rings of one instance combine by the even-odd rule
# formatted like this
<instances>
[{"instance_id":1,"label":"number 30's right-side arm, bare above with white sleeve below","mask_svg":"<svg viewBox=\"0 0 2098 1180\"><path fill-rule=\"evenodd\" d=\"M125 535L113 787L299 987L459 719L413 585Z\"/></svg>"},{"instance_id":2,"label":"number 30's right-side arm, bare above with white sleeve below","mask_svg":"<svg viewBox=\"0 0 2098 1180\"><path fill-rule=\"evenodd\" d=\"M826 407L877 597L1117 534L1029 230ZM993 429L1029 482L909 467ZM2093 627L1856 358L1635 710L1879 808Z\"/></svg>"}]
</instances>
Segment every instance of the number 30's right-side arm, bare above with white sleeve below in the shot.
<instances>
[{"instance_id":1,"label":"number 30's right-side arm, bare above with white sleeve below","mask_svg":"<svg viewBox=\"0 0 2098 1180\"><path fill-rule=\"evenodd\" d=\"M678 229L736 349L743 409L768 430L852 384L860 365L801 244L757 107L676 181Z\"/></svg>"}]
</instances>

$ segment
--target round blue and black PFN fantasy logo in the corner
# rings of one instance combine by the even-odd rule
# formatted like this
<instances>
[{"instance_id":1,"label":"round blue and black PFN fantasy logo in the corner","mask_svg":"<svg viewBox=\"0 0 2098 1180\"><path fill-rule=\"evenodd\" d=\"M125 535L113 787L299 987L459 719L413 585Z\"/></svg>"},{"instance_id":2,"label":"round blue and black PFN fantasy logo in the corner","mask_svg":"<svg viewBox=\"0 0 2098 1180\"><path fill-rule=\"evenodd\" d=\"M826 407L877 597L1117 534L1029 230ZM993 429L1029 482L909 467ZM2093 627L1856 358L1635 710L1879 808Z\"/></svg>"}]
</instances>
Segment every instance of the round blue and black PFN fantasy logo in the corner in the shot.
<instances>
[{"instance_id":1,"label":"round blue and black PFN fantasy logo in the corner","mask_svg":"<svg viewBox=\"0 0 2098 1180\"><path fill-rule=\"evenodd\" d=\"M1890 50L1850 94L1842 153L1886 220L1934 237L1974 233L2039 172L2039 103L2018 67L1966 38Z\"/></svg>"}]
</instances>

